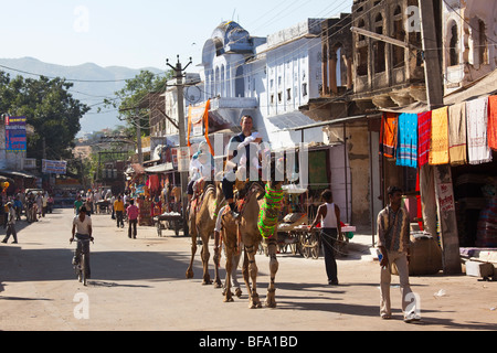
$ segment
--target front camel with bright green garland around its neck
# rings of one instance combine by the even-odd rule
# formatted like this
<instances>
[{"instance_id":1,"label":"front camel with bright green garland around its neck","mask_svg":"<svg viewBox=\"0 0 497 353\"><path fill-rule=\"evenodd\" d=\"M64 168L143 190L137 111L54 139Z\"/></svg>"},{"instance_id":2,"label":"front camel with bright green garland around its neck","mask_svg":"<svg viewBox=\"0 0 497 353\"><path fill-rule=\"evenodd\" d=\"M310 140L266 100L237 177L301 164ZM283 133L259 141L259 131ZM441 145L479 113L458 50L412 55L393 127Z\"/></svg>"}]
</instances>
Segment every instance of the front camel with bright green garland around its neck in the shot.
<instances>
[{"instance_id":1,"label":"front camel with bright green garland around its neck","mask_svg":"<svg viewBox=\"0 0 497 353\"><path fill-rule=\"evenodd\" d=\"M274 184L273 188L279 188L281 183ZM222 221L222 235L226 250L226 274L231 274L233 268L233 256L239 254L242 249L241 244L245 248L244 261L243 261L243 278L248 290L248 308L261 308L261 300L257 295L257 265L255 263L255 253L263 240L261 236L257 222L260 220L260 210L263 204L261 195L265 194L264 188L260 183L253 183L245 197L245 204L241 210L240 221L234 221L230 213L223 215ZM240 236L239 236L240 234ZM271 270L271 284L267 288L267 297L265 306L268 308L276 307L275 300L275 277L278 270L278 261L276 259L276 237L273 236L268 239L264 238L267 244L269 253L269 270ZM252 286L251 281L252 280ZM233 301L233 293L231 292L231 279L226 276L225 280L225 296L224 301Z\"/></svg>"}]
</instances>

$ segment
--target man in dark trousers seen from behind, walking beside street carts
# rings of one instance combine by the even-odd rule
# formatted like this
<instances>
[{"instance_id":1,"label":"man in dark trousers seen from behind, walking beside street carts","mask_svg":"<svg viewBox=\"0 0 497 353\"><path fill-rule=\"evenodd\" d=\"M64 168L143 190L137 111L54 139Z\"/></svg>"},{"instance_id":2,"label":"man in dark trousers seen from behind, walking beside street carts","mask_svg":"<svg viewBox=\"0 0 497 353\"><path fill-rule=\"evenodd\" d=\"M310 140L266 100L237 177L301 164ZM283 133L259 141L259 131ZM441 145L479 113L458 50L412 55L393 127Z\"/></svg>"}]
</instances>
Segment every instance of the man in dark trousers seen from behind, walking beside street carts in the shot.
<instances>
[{"instance_id":1,"label":"man in dark trousers seen from behind, walking beside street carts","mask_svg":"<svg viewBox=\"0 0 497 353\"><path fill-rule=\"evenodd\" d=\"M310 225L310 232L321 222L320 239L325 250L325 267L328 276L328 285L338 286L337 260L335 259L335 246L337 239L342 239L340 225L340 208L334 203L331 190L325 190L321 193L325 201L318 207L316 218Z\"/></svg>"}]
</instances>

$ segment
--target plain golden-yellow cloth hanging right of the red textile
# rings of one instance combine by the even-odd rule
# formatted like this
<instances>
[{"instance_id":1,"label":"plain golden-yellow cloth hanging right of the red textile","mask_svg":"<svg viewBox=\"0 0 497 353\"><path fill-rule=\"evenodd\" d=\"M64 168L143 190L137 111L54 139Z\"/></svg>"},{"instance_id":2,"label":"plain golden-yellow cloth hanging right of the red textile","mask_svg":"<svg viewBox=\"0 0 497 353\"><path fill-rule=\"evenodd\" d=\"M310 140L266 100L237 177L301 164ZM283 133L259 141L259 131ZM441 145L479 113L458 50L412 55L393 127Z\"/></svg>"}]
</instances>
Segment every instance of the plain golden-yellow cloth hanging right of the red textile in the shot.
<instances>
[{"instance_id":1,"label":"plain golden-yellow cloth hanging right of the red textile","mask_svg":"<svg viewBox=\"0 0 497 353\"><path fill-rule=\"evenodd\" d=\"M448 164L448 107L432 110L430 164Z\"/></svg>"}]
</instances>

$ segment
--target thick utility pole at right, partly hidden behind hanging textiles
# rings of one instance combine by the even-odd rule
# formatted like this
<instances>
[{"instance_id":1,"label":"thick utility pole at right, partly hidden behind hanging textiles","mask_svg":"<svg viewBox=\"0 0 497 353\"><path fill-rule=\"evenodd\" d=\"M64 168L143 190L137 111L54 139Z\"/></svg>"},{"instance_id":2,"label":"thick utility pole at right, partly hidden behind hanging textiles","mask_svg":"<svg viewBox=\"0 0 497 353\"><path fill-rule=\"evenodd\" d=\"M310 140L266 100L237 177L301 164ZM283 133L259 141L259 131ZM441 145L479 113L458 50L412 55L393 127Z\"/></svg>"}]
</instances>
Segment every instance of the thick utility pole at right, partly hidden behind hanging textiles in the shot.
<instances>
[{"instance_id":1,"label":"thick utility pole at right, partly hidden behind hanging textiles","mask_svg":"<svg viewBox=\"0 0 497 353\"><path fill-rule=\"evenodd\" d=\"M436 40L434 1L419 0L421 32L424 52L424 72L429 109L434 110L444 106L443 76ZM442 238L442 261L445 275L461 274L459 238L455 214L454 186L451 167L423 165L433 168L436 205ZM443 204L443 207L441 207ZM442 208L442 210L441 210Z\"/></svg>"}]
</instances>

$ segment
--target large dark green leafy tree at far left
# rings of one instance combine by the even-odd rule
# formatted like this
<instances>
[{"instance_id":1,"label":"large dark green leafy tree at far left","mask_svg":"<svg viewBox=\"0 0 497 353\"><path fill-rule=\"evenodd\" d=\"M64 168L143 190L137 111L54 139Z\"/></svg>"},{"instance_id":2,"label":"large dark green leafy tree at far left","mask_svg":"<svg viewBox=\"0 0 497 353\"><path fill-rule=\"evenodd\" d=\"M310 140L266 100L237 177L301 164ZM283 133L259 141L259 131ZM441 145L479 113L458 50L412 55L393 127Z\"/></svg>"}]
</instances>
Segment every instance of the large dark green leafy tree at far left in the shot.
<instances>
[{"instance_id":1,"label":"large dark green leafy tree at far left","mask_svg":"<svg viewBox=\"0 0 497 353\"><path fill-rule=\"evenodd\" d=\"M64 78L41 76L39 79L10 76L0 72L0 111L25 116L34 127L28 138L28 157L42 159L72 158L70 148L81 130L80 119L89 107L68 93L73 86Z\"/></svg>"}]
</instances>

